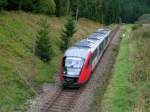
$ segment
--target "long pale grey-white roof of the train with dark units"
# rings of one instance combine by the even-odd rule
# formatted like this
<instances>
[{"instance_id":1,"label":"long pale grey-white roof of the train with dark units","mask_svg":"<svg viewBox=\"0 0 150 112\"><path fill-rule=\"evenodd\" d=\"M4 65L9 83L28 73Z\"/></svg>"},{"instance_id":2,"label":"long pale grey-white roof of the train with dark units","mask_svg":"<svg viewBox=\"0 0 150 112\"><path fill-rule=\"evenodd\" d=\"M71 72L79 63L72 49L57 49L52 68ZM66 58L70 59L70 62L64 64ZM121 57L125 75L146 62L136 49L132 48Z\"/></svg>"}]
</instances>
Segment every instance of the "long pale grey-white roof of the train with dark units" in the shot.
<instances>
[{"instance_id":1,"label":"long pale grey-white roof of the train with dark units","mask_svg":"<svg viewBox=\"0 0 150 112\"><path fill-rule=\"evenodd\" d=\"M86 39L81 40L74 44L73 47L69 48L66 51L65 56L86 58L89 50L94 51L97 45L99 45L99 43L110 34L110 32L111 30L107 28L98 29L93 34L87 36Z\"/></svg>"}]
</instances>

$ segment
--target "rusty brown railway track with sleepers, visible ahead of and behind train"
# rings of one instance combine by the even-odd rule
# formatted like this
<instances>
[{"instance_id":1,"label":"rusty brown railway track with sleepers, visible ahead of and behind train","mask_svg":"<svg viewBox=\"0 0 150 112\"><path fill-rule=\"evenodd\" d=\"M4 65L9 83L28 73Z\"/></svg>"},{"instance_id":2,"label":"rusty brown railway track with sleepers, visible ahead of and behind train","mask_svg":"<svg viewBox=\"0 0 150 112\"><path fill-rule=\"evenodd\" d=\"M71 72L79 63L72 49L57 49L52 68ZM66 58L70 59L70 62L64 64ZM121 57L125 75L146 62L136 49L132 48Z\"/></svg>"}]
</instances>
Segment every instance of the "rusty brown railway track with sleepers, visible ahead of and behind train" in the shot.
<instances>
[{"instance_id":1,"label":"rusty brown railway track with sleepers, visible ahead of and behind train","mask_svg":"<svg viewBox=\"0 0 150 112\"><path fill-rule=\"evenodd\" d=\"M113 39L114 36L120 31L118 26L111 34ZM86 90L82 89L58 89L52 99L49 99L43 107L40 109L41 112L70 112L74 107L74 104L78 100L80 94Z\"/></svg>"}]
</instances>

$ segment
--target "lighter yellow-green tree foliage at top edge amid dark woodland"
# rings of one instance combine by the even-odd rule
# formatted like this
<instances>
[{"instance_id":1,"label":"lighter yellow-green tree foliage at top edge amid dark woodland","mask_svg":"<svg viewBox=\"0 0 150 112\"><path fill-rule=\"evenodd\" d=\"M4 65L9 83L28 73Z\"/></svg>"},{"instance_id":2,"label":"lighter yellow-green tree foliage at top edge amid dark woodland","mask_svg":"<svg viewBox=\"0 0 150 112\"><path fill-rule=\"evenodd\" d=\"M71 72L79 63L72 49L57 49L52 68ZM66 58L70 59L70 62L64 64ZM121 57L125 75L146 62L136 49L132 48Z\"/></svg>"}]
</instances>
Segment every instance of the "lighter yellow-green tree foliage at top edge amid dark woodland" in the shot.
<instances>
[{"instance_id":1,"label":"lighter yellow-green tree foliage at top edge amid dark woodland","mask_svg":"<svg viewBox=\"0 0 150 112\"><path fill-rule=\"evenodd\" d=\"M54 0L37 0L35 2L34 11L45 14L54 14L56 4Z\"/></svg>"}]
</instances>

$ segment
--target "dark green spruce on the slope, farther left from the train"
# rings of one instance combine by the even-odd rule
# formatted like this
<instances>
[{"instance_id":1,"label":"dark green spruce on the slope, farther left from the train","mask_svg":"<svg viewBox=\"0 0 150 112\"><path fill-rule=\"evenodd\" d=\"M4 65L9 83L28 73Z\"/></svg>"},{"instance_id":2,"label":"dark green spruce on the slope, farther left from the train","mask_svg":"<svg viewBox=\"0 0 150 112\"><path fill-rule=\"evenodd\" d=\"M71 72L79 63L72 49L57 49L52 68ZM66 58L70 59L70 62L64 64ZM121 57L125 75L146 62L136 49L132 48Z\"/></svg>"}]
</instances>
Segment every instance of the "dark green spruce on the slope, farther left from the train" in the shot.
<instances>
[{"instance_id":1,"label":"dark green spruce on the slope, farther left from the train","mask_svg":"<svg viewBox=\"0 0 150 112\"><path fill-rule=\"evenodd\" d=\"M36 55L40 57L41 60L48 62L51 60L52 49L48 31L48 25L46 22L41 24L41 29L38 31L36 39Z\"/></svg>"}]
</instances>

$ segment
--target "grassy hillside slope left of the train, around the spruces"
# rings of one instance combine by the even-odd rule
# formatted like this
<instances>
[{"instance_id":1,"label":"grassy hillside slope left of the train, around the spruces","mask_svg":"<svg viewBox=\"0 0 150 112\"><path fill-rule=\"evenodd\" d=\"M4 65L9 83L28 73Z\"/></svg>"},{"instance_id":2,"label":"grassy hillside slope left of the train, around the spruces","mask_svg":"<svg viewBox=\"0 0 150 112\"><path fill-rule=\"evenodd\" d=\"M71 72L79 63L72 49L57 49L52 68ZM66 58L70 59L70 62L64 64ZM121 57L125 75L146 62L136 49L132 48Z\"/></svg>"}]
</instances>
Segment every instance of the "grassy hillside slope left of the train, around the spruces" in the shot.
<instances>
[{"instance_id":1,"label":"grassy hillside slope left of the train, around the spruces","mask_svg":"<svg viewBox=\"0 0 150 112\"><path fill-rule=\"evenodd\" d=\"M53 58L44 63L36 57L35 69L32 62L32 40L39 29L41 19L47 19L53 47ZM57 41L66 22L66 17L56 18L25 12L0 13L0 111L26 110L27 99L35 95L33 89L43 83L54 82L59 74L59 63L63 55ZM72 43L80 40L100 27L99 23L80 19L78 31ZM29 84L27 83L29 82Z\"/></svg>"}]
</instances>

